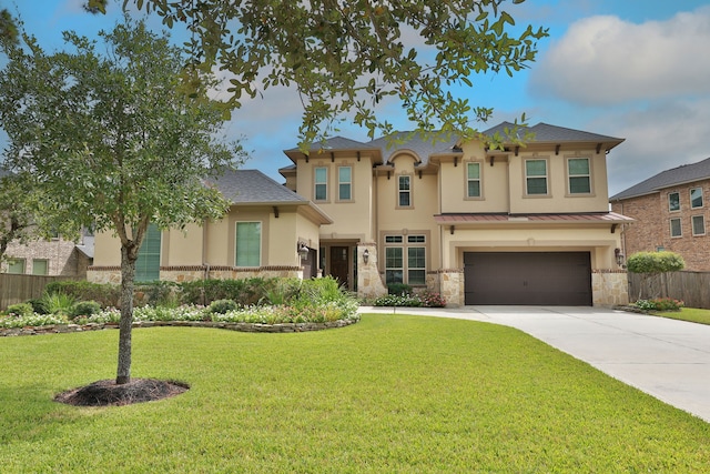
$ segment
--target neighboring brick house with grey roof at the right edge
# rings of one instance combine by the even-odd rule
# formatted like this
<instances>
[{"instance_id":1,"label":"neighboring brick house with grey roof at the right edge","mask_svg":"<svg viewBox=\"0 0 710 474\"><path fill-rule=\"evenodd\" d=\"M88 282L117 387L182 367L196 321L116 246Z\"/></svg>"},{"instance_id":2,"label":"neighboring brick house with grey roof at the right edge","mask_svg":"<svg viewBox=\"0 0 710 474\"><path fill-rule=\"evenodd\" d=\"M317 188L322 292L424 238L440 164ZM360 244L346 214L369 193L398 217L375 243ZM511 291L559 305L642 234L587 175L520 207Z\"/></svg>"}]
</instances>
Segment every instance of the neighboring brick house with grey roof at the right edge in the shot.
<instances>
[{"instance_id":1,"label":"neighboring brick house with grey roof at the right edge","mask_svg":"<svg viewBox=\"0 0 710 474\"><path fill-rule=\"evenodd\" d=\"M612 195L612 211L637 221L623 225L623 252L669 250L682 255L686 270L710 271L709 199L710 158L666 170Z\"/></svg>"}]
</instances>

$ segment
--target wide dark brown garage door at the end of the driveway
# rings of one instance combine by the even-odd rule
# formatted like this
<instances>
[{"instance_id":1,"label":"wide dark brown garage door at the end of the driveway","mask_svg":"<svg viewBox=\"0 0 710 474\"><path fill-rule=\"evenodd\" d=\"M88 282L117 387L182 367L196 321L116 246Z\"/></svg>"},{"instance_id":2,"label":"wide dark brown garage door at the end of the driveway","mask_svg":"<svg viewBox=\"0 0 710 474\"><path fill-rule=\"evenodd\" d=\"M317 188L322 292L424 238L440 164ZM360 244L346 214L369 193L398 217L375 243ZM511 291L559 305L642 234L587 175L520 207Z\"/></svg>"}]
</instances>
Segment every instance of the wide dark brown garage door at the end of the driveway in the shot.
<instances>
[{"instance_id":1,"label":"wide dark brown garage door at the end of the driveway","mask_svg":"<svg viewBox=\"0 0 710 474\"><path fill-rule=\"evenodd\" d=\"M591 305L589 252L466 252L466 304Z\"/></svg>"}]
</instances>

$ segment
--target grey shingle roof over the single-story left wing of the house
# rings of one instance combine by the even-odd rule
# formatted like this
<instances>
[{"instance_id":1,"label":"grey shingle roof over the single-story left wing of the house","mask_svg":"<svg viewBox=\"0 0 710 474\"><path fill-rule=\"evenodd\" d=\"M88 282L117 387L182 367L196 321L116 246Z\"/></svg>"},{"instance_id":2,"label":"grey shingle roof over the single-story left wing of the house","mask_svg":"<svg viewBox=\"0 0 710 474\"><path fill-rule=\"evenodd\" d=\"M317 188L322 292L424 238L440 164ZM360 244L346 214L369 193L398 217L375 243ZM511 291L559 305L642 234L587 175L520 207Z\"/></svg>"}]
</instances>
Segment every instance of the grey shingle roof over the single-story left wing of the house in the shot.
<instances>
[{"instance_id":1,"label":"grey shingle roof over the single-story left wing of the house","mask_svg":"<svg viewBox=\"0 0 710 474\"><path fill-rule=\"evenodd\" d=\"M258 170L227 170L216 179L205 181L215 184L234 204L308 202Z\"/></svg>"}]
</instances>

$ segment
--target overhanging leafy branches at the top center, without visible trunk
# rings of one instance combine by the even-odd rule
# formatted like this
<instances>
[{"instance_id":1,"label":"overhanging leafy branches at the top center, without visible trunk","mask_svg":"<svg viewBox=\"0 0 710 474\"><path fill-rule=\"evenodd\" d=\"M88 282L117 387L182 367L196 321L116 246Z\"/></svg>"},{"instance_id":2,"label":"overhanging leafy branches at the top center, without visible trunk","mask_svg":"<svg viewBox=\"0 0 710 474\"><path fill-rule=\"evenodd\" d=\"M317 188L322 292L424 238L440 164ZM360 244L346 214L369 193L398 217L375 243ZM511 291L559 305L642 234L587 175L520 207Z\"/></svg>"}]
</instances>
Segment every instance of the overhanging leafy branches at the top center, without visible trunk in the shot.
<instances>
[{"instance_id":1,"label":"overhanging leafy branches at the top center, without visible trunk","mask_svg":"<svg viewBox=\"0 0 710 474\"><path fill-rule=\"evenodd\" d=\"M387 97L400 101L419 131L480 138L475 121L487 120L493 110L452 90L470 87L476 73L513 74L535 60L547 30L515 26L504 10L524 1L124 0L123 7L156 12L171 28L183 24L193 73L214 67L231 72L234 108L244 95L273 85L295 88L307 147L347 114L371 138L392 131L376 115ZM100 11L105 4L89 0Z\"/></svg>"}]
</instances>

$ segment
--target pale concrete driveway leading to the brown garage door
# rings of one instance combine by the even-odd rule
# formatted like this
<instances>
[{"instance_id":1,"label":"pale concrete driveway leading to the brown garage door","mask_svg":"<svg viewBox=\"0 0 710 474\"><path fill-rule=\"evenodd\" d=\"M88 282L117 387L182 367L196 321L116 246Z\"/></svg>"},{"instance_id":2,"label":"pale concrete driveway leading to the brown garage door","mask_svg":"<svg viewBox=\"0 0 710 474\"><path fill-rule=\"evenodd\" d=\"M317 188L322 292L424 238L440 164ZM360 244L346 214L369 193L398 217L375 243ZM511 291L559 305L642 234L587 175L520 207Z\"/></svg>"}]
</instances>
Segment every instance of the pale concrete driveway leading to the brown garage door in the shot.
<instances>
[{"instance_id":1,"label":"pale concrete driveway leading to the brown garage door","mask_svg":"<svg viewBox=\"0 0 710 474\"><path fill-rule=\"evenodd\" d=\"M362 307L393 313L392 307ZM710 422L710 326L602 307L398 307L524 331L612 377Z\"/></svg>"}]
</instances>

